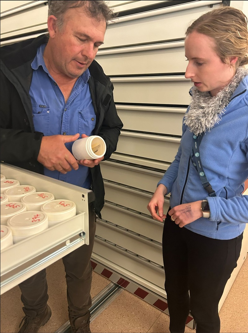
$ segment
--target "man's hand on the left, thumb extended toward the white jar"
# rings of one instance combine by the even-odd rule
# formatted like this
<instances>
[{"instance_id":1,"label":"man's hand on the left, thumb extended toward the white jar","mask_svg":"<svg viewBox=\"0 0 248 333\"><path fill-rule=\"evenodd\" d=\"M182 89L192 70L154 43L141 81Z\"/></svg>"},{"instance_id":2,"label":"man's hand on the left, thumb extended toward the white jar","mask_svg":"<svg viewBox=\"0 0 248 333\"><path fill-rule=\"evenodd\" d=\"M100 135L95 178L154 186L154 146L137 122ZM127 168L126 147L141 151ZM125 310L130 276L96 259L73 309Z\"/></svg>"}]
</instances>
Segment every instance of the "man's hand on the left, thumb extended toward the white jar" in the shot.
<instances>
[{"instance_id":1,"label":"man's hand on the left, thumb extended toward the white jar","mask_svg":"<svg viewBox=\"0 0 248 333\"><path fill-rule=\"evenodd\" d=\"M38 162L51 171L58 170L66 173L72 168L78 169L78 163L74 156L65 147L65 143L75 141L79 133L75 135L51 135L43 137L38 155Z\"/></svg>"}]
</instances>

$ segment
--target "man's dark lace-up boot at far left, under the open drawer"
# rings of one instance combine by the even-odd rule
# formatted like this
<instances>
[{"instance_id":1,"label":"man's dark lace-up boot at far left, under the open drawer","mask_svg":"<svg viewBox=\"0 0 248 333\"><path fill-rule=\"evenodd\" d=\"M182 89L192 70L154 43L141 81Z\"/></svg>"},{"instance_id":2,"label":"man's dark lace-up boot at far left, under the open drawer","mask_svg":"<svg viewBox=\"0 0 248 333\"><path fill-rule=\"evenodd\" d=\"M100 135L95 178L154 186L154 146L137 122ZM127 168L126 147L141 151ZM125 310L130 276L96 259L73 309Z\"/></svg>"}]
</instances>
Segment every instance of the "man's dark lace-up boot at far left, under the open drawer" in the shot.
<instances>
[{"instance_id":1,"label":"man's dark lace-up boot at far left, under the open drawer","mask_svg":"<svg viewBox=\"0 0 248 333\"><path fill-rule=\"evenodd\" d=\"M22 325L22 322L24 321L20 331L18 333L37 333L41 326L45 325L50 317L51 317L52 311L47 305L46 310L42 312L39 316L36 317L30 317L25 316L22 318L22 321L19 325L19 327Z\"/></svg>"}]
</instances>

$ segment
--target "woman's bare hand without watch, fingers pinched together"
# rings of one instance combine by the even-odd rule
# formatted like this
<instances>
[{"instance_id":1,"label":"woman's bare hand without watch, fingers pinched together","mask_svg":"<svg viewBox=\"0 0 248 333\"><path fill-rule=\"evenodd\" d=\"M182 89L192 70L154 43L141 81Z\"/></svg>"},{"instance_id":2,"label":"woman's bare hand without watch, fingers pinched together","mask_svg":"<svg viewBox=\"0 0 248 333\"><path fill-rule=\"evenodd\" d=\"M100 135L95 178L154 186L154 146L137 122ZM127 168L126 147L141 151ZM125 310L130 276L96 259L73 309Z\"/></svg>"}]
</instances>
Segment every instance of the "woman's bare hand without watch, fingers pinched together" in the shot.
<instances>
[{"instance_id":1,"label":"woman's bare hand without watch, fingers pinched together","mask_svg":"<svg viewBox=\"0 0 248 333\"><path fill-rule=\"evenodd\" d=\"M163 222L163 220L166 218L163 208L165 202L164 196L166 195L166 193L167 187L163 184L159 184L150 202L147 205L147 209L150 211L152 217L160 222ZM159 215L157 214L157 211L159 211Z\"/></svg>"}]
</instances>

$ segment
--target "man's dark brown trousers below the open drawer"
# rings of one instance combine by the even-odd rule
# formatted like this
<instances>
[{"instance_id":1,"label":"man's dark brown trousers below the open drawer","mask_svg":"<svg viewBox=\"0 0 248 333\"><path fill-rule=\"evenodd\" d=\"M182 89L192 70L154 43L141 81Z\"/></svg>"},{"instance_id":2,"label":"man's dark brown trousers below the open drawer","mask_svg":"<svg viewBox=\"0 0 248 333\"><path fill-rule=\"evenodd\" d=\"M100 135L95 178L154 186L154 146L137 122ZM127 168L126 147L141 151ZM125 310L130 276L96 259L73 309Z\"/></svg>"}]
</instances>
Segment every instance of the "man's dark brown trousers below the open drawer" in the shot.
<instances>
[{"instance_id":1,"label":"man's dark brown trousers below the open drawer","mask_svg":"<svg viewBox=\"0 0 248 333\"><path fill-rule=\"evenodd\" d=\"M90 288L92 268L90 257L94 244L96 215L93 204L89 205L89 245L82 245L65 255L62 260L67 284L68 311L71 318L83 316L91 307ZM36 273L19 284L25 315L41 314L48 301L46 270Z\"/></svg>"}]
</instances>

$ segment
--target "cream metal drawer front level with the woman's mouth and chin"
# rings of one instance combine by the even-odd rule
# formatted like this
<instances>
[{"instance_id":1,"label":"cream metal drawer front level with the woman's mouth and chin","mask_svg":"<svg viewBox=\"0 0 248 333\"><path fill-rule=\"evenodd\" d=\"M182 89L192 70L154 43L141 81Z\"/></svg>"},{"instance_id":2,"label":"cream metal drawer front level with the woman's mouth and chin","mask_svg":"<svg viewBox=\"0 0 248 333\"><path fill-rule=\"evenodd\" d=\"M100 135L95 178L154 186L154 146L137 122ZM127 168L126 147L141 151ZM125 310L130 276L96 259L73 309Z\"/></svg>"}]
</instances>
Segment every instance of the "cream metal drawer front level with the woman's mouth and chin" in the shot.
<instances>
[{"instance_id":1,"label":"cream metal drawer front level with the woman's mouth and chin","mask_svg":"<svg viewBox=\"0 0 248 333\"><path fill-rule=\"evenodd\" d=\"M190 104L191 83L184 76L111 78L118 103Z\"/></svg>"}]
</instances>

